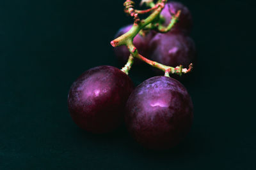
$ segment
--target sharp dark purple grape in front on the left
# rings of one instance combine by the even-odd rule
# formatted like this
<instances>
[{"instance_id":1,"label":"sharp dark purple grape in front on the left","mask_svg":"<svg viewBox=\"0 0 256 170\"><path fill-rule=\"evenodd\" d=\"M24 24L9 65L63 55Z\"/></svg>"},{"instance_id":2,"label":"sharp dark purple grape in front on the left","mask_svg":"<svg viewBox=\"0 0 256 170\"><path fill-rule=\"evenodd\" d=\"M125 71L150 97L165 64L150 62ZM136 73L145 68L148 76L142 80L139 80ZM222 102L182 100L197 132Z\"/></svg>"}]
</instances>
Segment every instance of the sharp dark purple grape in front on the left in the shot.
<instances>
[{"instance_id":1,"label":"sharp dark purple grape in front on the left","mask_svg":"<svg viewBox=\"0 0 256 170\"><path fill-rule=\"evenodd\" d=\"M74 122L86 131L113 131L124 122L125 103L133 88L129 76L120 69L94 67L72 84L68 110Z\"/></svg>"}]
</instances>

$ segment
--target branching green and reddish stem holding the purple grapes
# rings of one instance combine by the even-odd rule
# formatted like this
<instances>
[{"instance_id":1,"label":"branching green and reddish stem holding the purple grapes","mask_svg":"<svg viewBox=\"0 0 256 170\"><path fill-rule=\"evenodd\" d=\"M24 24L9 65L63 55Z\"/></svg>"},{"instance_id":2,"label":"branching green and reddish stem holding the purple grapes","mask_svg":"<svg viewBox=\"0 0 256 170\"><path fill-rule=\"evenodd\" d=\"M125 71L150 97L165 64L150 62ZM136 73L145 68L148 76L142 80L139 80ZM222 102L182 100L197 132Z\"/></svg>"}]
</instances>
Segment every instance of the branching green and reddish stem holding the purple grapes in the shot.
<instances>
[{"instance_id":1,"label":"branching green and reddish stem holding the purple grapes","mask_svg":"<svg viewBox=\"0 0 256 170\"><path fill-rule=\"evenodd\" d=\"M134 10L134 2L130 0L126 0L124 3L125 6L125 12L129 13L132 17L134 17L134 24L132 25L131 29L123 34L122 36L114 39L111 41L111 45L113 47L125 45L127 46L129 52L131 53L127 64L122 68L122 71L124 71L125 74L129 73L129 70L131 69L133 59L134 57L142 60L143 62L146 62L150 66L156 67L158 69L161 69L164 71L164 76L169 76L170 73L172 74L179 74L180 76L182 74L189 73L191 69L193 68L193 64L189 65L189 68L183 68L182 65L177 67L170 67L165 66L163 64L160 64L156 61L149 60L146 57L143 57L140 53L138 53L137 48L133 44L133 38L141 31L141 29L154 29L158 32L168 32L170 29L172 29L173 25L177 22L179 16L180 16L180 10L177 11L177 13L172 14L172 20L170 21L170 24L168 24L167 27L164 27L163 25L159 25L159 15L161 11L164 8L164 5L166 4L167 0L158 0L156 4L152 0L142 0L141 4L146 3L147 6L150 6L151 8L148 10ZM138 13L148 13L152 12L147 18L144 20L140 20L138 17ZM157 20L158 19L158 20Z\"/></svg>"}]
</instances>

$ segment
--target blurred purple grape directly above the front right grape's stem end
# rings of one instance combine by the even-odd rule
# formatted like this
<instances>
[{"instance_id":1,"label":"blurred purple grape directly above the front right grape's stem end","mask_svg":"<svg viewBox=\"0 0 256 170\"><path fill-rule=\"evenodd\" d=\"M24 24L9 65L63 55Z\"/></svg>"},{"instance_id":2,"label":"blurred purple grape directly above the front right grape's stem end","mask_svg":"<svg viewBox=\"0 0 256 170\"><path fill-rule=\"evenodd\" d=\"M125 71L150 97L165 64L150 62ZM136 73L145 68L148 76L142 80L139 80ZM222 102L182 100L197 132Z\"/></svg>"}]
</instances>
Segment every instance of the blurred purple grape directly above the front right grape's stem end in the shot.
<instances>
[{"instance_id":1,"label":"blurred purple grape directly above the front right grape's stem end","mask_svg":"<svg viewBox=\"0 0 256 170\"><path fill-rule=\"evenodd\" d=\"M184 34L158 33L150 42L150 59L166 66L176 67L182 64L188 67L195 61L195 43Z\"/></svg>"}]
</instances>

